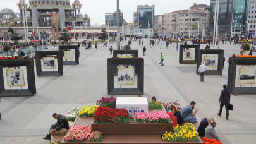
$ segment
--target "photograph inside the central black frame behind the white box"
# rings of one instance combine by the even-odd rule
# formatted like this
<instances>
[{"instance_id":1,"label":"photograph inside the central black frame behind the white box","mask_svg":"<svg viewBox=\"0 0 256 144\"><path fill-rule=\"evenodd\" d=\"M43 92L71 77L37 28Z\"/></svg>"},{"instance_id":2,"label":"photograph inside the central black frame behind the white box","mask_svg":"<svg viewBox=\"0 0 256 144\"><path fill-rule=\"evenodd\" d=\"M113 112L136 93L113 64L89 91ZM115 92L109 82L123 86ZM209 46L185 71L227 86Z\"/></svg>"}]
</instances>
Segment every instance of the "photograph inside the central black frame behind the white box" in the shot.
<instances>
[{"instance_id":1,"label":"photograph inside the central black frame behind the white box","mask_svg":"<svg viewBox=\"0 0 256 144\"><path fill-rule=\"evenodd\" d=\"M134 85L134 68L118 68L118 85Z\"/></svg>"}]
</instances>

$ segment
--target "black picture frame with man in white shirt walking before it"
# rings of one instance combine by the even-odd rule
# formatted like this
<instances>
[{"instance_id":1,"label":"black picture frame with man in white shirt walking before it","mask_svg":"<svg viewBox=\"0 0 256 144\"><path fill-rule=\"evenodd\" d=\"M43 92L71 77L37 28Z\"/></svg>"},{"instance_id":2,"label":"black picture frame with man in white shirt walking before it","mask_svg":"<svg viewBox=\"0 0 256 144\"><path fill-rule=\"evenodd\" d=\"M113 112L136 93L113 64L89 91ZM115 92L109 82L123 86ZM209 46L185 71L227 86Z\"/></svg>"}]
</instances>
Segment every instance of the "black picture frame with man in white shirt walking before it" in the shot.
<instances>
[{"instance_id":1,"label":"black picture frame with man in white shirt walking before it","mask_svg":"<svg viewBox=\"0 0 256 144\"><path fill-rule=\"evenodd\" d=\"M218 57L218 64L217 64L217 70L206 70L205 75L222 75L223 71L223 57L224 57L224 50L222 49L200 49L198 51L197 55L197 71L196 73L199 74L199 66L201 65L202 62L202 56L203 54L217 54Z\"/></svg>"}]
</instances>

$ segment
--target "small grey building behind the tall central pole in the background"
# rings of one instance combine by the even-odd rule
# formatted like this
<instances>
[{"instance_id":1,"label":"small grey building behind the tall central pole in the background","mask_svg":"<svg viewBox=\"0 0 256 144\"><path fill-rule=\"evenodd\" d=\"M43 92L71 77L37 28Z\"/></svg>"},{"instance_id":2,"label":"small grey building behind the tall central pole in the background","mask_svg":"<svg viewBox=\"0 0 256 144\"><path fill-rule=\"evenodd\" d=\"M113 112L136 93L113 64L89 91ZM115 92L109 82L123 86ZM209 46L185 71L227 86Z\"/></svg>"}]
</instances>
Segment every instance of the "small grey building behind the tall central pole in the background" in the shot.
<instances>
[{"instance_id":1,"label":"small grey building behind the tall central pole in the background","mask_svg":"<svg viewBox=\"0 0 256 144\"><path fill-rule=\"evenodd\" d=\"M120 27L122 27L125 20L123 20L123 12L120 11ZM116 11L114 13L105 14L105 25L109 27L118 25L118 14Z\"/></svg>"}]
</instances>

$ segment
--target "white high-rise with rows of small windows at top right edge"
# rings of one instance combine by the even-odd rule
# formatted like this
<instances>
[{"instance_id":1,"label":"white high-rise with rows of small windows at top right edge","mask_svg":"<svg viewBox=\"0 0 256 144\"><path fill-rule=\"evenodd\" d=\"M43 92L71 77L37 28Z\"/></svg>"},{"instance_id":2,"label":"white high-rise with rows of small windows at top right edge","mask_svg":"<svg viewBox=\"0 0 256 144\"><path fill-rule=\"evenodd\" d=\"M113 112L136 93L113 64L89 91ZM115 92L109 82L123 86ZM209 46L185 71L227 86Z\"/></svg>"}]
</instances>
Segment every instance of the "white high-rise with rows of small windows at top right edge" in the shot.
<instances>
[{"instance_id":1,"label":"white high-rise with rows of small windows at top right edge","mask_svg":"<svg viewBox=\"0 0 256 144\"><path fill-rule=\"evenodd\" d=\"M256 37L256 0L249 0L248 1L248 16L247 21L250 23L249 27L249 35L253 35ZM248 30L248 27L247 27Z\"/></svg>"}]
</instances>

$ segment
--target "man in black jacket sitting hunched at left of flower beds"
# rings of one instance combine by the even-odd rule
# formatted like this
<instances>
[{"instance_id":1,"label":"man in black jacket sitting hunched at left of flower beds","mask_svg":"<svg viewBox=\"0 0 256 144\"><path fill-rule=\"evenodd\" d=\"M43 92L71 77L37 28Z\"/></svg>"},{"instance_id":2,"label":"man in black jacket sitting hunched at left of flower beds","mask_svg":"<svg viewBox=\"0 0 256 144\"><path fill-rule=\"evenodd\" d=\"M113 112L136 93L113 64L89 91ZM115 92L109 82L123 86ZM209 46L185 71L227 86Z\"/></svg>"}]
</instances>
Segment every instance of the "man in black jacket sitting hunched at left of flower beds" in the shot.
<instances>
[{"instance_id":1,"label":"man in black jacket sitting hunched at left of flower beds","mask_svg":"<svg viewBox=\"0 0 256 144\"><path fill-rule=\"evenodd\" d=\"M47 136L43 138L45 140L51 140L51 135L66 135L66 133L68 133L68 129L70 129L66 116L54 113L52 117L54 117L54 119L57 119L57 122L51 125L49 134L47 134Z\"/></svg>"}]
</instances>

